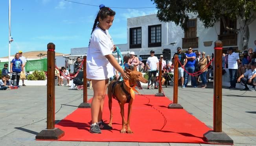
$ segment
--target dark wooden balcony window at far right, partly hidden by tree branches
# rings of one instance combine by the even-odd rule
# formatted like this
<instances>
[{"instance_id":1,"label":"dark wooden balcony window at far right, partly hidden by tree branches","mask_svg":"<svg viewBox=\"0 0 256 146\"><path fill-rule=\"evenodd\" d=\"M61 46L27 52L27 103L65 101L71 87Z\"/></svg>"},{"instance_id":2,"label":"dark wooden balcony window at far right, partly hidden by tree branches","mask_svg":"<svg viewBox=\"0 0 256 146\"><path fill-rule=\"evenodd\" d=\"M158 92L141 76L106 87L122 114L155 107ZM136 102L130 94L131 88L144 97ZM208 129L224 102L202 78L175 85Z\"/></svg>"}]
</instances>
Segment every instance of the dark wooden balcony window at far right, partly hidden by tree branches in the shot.
<instances>
[{"instance_id":1,"label":"dark wooden balcony window at far right, partly hidden by tree branches","mask_svg":"<svg viewBox=\"0 0 256 146\"><path fill-rule=\"evenodd\" d=\"M227 23L227 27L235 28L236 29L236 20L230 20L225 18ZM220 35L218 35L218 40L221 40L223 46L236 46L237 45L237 34L234 31L227 31L224 28L222 20L220 21Z\"/></svg>"}]
</instances>

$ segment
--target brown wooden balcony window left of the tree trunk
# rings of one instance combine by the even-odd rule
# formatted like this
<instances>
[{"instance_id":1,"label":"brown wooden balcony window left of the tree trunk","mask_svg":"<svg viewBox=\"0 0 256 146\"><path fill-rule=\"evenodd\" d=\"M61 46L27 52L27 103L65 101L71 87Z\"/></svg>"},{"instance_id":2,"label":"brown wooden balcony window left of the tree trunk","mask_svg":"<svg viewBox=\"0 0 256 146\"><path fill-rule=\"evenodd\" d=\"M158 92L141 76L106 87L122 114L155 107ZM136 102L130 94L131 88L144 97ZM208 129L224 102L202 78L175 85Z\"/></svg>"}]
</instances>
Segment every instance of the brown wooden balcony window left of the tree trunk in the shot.
<instances>
[{"instance_id":1,"label":"brown wooden balcony window left of the tree trunk","mask_svg":"<svg viewBox=\"0 0 256 146\"><path fill-rule=\"evenodd\" d=\"M197 19L188 20L187 27L184 38L182 38L182 48L187 49L190 46L198 48Z\"/></svg>"}]
</instances>

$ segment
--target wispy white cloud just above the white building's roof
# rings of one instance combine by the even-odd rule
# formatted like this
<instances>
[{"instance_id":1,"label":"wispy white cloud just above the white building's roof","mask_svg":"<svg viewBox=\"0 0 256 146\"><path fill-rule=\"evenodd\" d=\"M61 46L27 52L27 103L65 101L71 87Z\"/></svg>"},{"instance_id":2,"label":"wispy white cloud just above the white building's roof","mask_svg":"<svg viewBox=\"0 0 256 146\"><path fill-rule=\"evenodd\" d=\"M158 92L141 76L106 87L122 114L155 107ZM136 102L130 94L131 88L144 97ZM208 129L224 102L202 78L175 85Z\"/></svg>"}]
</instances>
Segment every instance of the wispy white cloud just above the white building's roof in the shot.
<instances>
[{"instance_id":1,"label":"wispy white cloud just above the white building's roof","mask_svg":"<svg viewBox=\"0 0 256 146\"><path fill-rule=\"evenodd\" d=\"M140 11L140 10L136 10L136 9L128 9L128 12L121 14L121 16L123 17L123 19L127 20L127 18L133 18L133 17L138 17L138 16L145 16L145 15L156 14L156 13L157 13L157 10L153 10L153 11Z\"/></svg>"}]
</instances>

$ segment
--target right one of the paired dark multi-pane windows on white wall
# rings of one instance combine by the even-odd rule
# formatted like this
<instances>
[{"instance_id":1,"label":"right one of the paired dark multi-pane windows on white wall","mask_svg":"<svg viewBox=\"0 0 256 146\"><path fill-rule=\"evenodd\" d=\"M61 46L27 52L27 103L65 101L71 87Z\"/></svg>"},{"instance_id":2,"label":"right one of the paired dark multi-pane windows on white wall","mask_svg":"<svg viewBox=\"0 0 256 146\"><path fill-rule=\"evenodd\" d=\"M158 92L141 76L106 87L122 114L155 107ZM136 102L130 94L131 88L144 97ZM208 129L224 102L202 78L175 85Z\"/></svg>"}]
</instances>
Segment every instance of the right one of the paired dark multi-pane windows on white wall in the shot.
<instances>
[{"instance_id":1,"label":"right one of the paired dark multi-pane windows on white wall","mask_svg":"<svg viewBox=\"0 0 256 146\"><path fill-rule=\"evenodd\" d=\"M161 47L161 24L148 27L148 47Z\"/></svg>"}]
</instances>

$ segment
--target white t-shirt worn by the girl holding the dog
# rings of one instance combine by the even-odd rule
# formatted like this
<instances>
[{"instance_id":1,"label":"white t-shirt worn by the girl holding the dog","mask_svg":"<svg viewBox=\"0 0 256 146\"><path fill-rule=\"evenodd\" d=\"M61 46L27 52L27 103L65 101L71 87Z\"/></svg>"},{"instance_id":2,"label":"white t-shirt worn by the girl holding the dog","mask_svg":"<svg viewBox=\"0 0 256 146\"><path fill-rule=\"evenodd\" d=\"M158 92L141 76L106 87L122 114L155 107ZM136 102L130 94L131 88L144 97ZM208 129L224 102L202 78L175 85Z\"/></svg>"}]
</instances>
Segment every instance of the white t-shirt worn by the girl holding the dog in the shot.
<instances>
[{"instance_id":1,"label":"white t-shirt worn by the girl holding the dog","mask_svg":"<svg viewBox=\"0 0 256 146\"><path fill-rule=\"evenodd\" d=\"M107 30L96 27L92 32L87 52L87 78L109 79L114 76L114 67L105 55L112 54L114 43Z\"/></svg>"}]
</instances>

